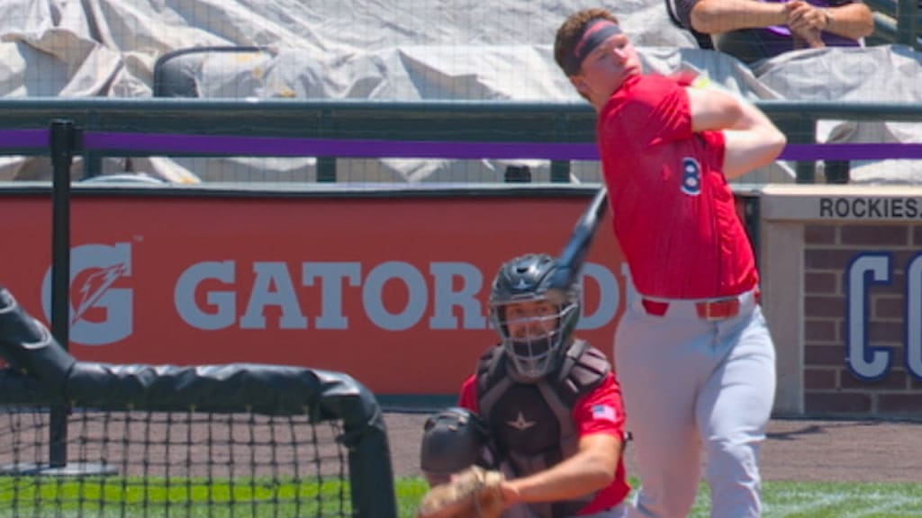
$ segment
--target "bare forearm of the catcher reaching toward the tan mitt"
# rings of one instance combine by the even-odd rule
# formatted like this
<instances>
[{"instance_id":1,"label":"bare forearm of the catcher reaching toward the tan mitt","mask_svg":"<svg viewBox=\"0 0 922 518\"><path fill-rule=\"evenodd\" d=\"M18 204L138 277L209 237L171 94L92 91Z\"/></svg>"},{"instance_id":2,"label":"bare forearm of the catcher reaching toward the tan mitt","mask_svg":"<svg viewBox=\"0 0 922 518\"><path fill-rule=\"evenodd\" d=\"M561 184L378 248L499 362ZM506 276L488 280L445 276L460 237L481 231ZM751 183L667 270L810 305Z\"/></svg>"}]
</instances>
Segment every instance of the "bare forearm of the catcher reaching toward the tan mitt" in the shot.
<instances>
[{"instance_id":1,"label":"bare forearm of the catcher reaching toward the tan mitt","mask_svg":"<svg viewBox=\"0 0 922 518\"><path fill-rule=\"evenodd\" d=\"M504 481L503 500L513 505L579 498L611 484L620 458L621 439L617 436L585 435L579 440L579 451L560 464L528 477Z\"/></svg>"}]
</instances>

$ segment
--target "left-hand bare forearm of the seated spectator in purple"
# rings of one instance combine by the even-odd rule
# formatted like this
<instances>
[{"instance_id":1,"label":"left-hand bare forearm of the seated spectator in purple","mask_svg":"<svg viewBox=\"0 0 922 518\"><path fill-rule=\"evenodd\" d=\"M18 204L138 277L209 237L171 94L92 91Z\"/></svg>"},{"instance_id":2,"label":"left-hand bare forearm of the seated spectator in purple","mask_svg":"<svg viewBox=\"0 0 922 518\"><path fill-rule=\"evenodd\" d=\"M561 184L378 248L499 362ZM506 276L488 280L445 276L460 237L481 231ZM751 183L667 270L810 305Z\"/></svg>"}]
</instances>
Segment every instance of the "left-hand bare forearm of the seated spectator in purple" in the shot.
<instances>
[{"instance_id":1,"label":"left-hand bare forearm of the seated spectator in purple","mask_svg":"<svg viewBox=\"0 0 922 518\"><path fill-rule=\"evenodd\" d=\"M754 0L702 0L691 8L691 27L705 34L785 25L784 4Z\"/></svg>"}]
</instances>

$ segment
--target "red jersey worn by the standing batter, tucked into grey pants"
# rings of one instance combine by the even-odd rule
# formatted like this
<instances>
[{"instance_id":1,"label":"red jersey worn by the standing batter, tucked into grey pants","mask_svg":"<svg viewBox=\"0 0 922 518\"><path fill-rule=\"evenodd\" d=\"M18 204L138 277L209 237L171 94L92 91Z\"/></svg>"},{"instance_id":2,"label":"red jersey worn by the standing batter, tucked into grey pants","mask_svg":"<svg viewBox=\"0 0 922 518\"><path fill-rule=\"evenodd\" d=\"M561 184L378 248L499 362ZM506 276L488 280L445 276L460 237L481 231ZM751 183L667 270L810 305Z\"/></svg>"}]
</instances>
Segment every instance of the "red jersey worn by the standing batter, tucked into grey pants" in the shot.
<instances>
[{"instance_id":1,"label":"red jersey worn by the standing batter, tucked into grey pants","mask_svg":"<svg viewBox=\"0 0 922 518\"><path fill-rule=\"evenodd\" d=\"M759 281L721 171L724 134L691 132L690 80L630 77L597 121L612 225L634 287L664 299L739 295Z\"/></svg>"}]
</instances>

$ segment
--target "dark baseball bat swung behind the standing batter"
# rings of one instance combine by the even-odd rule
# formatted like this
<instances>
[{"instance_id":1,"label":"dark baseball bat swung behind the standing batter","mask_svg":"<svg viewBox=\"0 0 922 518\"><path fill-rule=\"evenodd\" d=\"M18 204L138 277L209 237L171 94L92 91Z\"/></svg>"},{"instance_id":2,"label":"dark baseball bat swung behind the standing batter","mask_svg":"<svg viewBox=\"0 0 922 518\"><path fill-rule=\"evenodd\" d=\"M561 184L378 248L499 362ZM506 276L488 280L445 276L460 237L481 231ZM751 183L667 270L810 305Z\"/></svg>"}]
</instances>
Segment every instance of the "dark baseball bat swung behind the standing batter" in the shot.
<instances>
[{"instance_id":1,"label":"dark baseball bat swung behind the standing batter","mask_svg":"<svg viewBox=\"0 0 922 518\"><path fill-rule=\"evenodd\" d=\"M563 247L557 259L557 269L550 277L545 296L552 303L561 305L566 300L567 291L579 279L583 271L585 257L592 246L592 238L596 235L598 224L605 216L605 209L609 206L608 191L605 185L598 190L592 202L585 208L583 215L576 221L570 240Z\"/></svg>"}]
</instances>

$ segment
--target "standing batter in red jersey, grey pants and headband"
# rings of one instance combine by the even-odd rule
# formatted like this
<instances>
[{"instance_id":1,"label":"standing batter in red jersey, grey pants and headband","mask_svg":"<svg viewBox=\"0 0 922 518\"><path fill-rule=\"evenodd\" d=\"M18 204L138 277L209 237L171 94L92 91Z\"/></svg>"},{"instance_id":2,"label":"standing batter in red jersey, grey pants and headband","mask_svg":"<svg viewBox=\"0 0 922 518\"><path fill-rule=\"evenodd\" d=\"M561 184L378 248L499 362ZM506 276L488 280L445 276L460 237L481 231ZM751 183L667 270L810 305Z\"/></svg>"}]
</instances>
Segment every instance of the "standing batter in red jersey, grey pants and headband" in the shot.
<instances>
[{"instance_id":1,"label":"standing batter in red jersey, grey pants and headband","mask_svg":"<svg viewBox=\"0 0 922 518\"><path fill-rule=\"evenodd\" d=\"M770 163L785 136L751 104L693 88L690 76L642 75L604 9L573 14L554 47L597 110L614 231L639 294L614 351L641 479L632 513L687 516L703 453L711 516L759 516L774 345L727 178Z\"/></svg>"}]
</instances>

